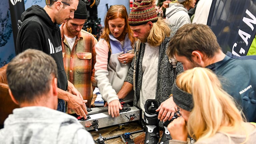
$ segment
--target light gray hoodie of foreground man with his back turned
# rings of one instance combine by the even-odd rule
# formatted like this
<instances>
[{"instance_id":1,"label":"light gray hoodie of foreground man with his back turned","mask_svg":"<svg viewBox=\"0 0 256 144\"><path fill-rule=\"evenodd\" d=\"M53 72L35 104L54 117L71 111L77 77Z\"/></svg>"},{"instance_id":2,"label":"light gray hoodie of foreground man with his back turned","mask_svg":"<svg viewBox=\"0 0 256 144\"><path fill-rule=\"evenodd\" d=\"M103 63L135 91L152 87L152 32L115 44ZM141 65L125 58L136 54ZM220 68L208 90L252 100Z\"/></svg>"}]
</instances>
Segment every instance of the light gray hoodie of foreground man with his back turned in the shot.
<instances>
[{"instance_id":1,"label":"light gray hoodie of foreground man with his back turned","mask_svg":"<svg viewBox=\"0 0 256 144\"><path fill-rule=\"evenodd\" d=\"M0 143L93 144L94 140L75 117L47 107L33 106L13 110L0 130Z\"/></svg>"}]
</instances>

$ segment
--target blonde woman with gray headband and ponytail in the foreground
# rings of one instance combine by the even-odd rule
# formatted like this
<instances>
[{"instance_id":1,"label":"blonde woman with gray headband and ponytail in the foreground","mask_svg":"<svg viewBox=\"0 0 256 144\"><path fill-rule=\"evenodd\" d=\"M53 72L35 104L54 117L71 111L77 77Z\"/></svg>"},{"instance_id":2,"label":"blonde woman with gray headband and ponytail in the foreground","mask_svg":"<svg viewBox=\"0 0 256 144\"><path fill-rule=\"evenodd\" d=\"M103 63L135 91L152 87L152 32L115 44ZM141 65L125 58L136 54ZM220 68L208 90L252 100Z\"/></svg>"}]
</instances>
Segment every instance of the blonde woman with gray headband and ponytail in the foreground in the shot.
<instances>
[{"instance_id":1,"label":"blonde woman with gray headband and ponytail in the foreground","mask_svg":"<svg viewBox=\"0 0 256 144\"><path fill-rule=\"evenodd\" d=\"M256 143L255 125L245 122L211 70L186 70L177 77L172 92L181 117L168 125L173 138L169 144L185 144L188 135L197 140L196 144Z\"/></svg>"}]
</instances>

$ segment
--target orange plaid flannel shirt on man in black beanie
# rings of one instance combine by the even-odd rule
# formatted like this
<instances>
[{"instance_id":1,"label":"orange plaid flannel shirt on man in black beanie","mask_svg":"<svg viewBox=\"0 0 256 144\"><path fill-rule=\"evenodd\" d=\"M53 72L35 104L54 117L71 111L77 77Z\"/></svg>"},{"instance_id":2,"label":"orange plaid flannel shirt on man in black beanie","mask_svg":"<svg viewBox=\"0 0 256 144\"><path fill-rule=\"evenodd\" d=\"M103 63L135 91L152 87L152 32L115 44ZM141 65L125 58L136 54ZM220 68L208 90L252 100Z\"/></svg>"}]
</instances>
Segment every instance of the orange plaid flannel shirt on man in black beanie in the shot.
<instances>
[{"instance_id":1,"label":"orange plaid flannel shirt on man in black beanie","mask_svg":"<svg viewBox=\"0 0 256 144\"><path fill-rule=\"evenodd\" d=\"M94 65L96 63L95 45L98 41L92 34L81 30L70 51L64 37L63 26L64 23L60 26L64 69L68 80L82 94L83 99L88 100L86 106L90 107L93 89L97 86Z\"/></svg>"}]
</instances>

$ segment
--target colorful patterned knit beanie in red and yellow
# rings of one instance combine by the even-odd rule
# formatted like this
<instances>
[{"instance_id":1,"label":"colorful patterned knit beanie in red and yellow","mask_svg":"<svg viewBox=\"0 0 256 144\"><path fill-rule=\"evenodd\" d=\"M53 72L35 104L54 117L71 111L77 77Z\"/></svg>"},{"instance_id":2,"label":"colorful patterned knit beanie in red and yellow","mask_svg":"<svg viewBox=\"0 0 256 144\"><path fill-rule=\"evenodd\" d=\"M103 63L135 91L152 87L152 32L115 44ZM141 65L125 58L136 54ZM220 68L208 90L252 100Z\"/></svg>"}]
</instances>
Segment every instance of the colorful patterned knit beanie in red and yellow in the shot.
<instances>
[{"instance_id":1,"label":"colorful patterned knit beanie in red and yellow","mask_svg":"<svg viewBox=\"0 0 256 144\"><path fill-rule=\"evenodd\" d=\"M138 26L149 21L152 23L158 20L156 10L151 0L136 0L128 17L130 26Z\"/></svg>"}]
</instances>

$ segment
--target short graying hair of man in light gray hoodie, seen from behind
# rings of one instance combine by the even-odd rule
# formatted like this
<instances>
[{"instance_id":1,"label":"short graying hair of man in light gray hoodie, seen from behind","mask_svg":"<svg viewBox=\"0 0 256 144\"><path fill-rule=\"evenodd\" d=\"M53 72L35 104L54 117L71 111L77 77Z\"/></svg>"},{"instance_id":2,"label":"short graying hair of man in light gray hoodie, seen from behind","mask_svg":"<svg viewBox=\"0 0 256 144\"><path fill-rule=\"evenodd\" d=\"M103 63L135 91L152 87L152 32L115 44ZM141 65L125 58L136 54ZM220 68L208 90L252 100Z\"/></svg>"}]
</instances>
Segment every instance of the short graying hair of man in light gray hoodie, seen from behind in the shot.
<instances>
[{"instance_id":1,"label":"short graying hair of man in light gray hoodie, seen from behind","mask_svg":"<svg viewBox=\"0 0 256 144\"><path fill-rule=\"evenodd\" d=\"M50 82L58 77L55 60L46 53L27 49L14 57L6 70L9 88L19 102L33 102L50 90Z\"/></svg>"}]
</instances>

